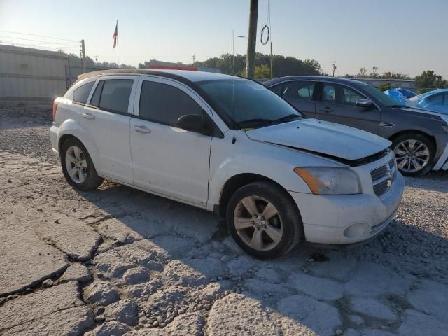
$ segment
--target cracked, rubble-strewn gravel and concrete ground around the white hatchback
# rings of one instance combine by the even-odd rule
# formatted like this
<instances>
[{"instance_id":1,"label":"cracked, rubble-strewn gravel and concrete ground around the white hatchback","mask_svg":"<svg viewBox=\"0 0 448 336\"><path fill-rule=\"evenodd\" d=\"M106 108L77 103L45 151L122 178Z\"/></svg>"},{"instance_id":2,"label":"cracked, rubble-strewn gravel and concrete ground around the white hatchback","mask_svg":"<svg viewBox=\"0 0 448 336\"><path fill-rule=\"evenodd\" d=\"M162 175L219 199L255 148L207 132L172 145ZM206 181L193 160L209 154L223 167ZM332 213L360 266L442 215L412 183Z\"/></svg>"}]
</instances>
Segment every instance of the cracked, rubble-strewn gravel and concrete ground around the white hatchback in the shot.
<instances>
[{"instance_id":1,"label":"cracked, rubble-strewn gravel and concrete ground around the white hatchback","mask_svg":"<svg viewBox=\"0 0 448 336\"><path fill-rule=\"evenodd\" d=\"M447 330L447 173L406 179L395 221L364 246L262 262L206 211L69 188L50 120L50 106L0 106L0 335Z\"/></svg>"}]
</instances>

